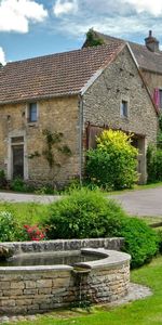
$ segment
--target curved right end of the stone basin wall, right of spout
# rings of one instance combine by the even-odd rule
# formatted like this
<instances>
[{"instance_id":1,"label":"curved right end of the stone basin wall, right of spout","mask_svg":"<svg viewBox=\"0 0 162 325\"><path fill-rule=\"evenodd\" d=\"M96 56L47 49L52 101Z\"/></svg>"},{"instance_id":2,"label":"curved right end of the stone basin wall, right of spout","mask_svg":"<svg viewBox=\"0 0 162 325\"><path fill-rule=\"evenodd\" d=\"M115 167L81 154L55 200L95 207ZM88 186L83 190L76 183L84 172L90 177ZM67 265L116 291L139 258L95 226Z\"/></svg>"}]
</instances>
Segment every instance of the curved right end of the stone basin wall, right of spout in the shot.
<instances>
[{"instance_id":1,"label":"curved right end of the stone basin wall, right of spout","mask_svg":"<svg viewBox=\"0 0 162 325\"><path fill-rule=\"evenodd\" d=\"M83 249L85 251L85 249ZM86 251L93 251L92 249ZM96 251L96 250L94 250ZM130 285L130 256L113 250L102 250L108 258L102 261L80 263L82 268L91 265L91 272L82 275L81 292L93 303L112 302L127 294Z\"/></svg>"}]
</instances>

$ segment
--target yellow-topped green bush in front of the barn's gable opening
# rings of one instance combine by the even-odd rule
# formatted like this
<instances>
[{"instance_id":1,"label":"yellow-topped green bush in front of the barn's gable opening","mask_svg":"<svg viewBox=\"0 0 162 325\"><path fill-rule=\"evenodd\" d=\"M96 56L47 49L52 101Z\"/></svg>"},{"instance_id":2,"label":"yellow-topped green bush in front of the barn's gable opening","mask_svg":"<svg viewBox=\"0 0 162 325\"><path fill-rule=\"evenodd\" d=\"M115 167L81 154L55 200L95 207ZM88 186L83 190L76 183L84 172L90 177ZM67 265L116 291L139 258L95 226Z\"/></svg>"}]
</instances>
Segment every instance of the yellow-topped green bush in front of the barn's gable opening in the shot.
<instances>
[{"instance_id":1,"label":"yellow-topped green bush in front of the barn's gable opening","mask_svg":"<svg viewBox=\"0 0 162 325\"><path fill-rule=\"evenodd\" d=\"M106 190L132 187L137 181L137 150L131 135L106 130L97 138L97 148L87 152L87 179Z\"/></svg>"}]
</instances>

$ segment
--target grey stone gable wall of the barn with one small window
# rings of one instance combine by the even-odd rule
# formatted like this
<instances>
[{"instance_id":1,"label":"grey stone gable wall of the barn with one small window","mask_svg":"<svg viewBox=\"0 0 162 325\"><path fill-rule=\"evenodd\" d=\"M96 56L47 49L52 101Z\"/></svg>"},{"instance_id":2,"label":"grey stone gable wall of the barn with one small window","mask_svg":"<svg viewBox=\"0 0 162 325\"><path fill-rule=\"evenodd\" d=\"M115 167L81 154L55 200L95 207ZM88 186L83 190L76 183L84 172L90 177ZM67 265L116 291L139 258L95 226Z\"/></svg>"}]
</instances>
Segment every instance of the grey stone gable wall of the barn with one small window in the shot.
<instances>
[{"instance_id":1,"label":"grey stone gable wall of the barn with one small window","mask_svg":"<svg viewBox=\"0 0 162 325\"><path fill-rule=\"evenodd\" d=\"M129 103L127 118L121 117L121 101ZM156 143L158 116L127 48L118 55L83 95L83 121L107 125L146 136Z\"/></svg>"}]
</instances>

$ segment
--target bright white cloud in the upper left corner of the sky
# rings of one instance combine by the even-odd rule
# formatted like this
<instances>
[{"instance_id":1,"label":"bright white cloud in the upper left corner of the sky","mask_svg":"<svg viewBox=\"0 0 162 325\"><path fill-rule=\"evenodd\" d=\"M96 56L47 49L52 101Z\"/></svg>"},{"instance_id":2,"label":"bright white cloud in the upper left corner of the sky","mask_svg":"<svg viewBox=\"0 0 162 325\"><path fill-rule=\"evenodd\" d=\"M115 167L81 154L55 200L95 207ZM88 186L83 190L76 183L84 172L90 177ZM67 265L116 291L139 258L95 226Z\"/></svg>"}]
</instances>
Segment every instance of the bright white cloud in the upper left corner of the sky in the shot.
<instances>
[{"instance_id":1,"label":"bright white cloud in the upper left corner of the sky","mask_svg":"<svg viewBox=\"0 0 162 325\"><path fill-rule=\"evenodd\" d=\"M29 23L42 22L48 11L32 0L0 0L0 31L27 32Z\"/></svg>"}]
</instances>

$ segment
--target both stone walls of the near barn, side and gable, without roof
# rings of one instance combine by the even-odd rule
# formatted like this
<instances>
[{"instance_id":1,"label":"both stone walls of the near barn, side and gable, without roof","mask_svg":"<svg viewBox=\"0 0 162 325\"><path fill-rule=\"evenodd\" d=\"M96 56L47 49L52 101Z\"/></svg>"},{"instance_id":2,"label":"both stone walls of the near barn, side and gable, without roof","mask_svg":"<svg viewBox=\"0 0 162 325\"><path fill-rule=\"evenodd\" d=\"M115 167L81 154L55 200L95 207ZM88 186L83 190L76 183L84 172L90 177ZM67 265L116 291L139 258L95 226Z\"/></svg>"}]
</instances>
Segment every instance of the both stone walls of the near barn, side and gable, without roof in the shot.
<instances>
[{"instance_id":1,"label":"both stone walls of the near barn, side and gable, without roof","mask_svg":"<svg viewBox=\"0 0 162 325\"><path fill-rule=\"evenodd\" d=\"M129 103L127 118L120 116L122 101ZM0 106L0 169L12 179L12 138L24 138L24 178L33 184L64 184L83 174L86 126L108 126L138 138L141 182L146 181L146 151L156 143L158 116L127 48L87 88L80 100L65 96L38 101L38 121L29 123L28 103ZM50 169L42 156L43 130L62 132L71 156L56 155L60 168ZM81 140L82 136L82 140ZM35 156L35 153L41 156Z\"/></svg>"}]
</instances>

